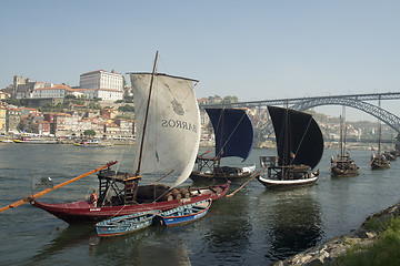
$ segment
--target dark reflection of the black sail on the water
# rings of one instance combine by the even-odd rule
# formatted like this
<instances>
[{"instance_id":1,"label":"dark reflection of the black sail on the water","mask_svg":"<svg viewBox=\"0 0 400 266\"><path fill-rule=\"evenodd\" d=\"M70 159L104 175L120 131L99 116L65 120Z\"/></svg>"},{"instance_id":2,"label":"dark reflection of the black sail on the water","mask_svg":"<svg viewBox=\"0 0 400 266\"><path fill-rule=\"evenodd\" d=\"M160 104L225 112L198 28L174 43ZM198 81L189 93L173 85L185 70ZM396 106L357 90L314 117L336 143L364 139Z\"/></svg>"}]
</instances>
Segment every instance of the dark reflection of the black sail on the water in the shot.
<instances>
[{"instance_id":1,"label":"dark reflection of the black sail on the water","mask_svg":"<svg viewBox=\"0 0 400 266\"><path fill-rule=\"evenodd\" d=\"M266 219L270 223L267 241L271 242L266 256L271 260L294 255L322 239L321 207L312 195L312 188L266 191L260 197L260 201L273 201Z\"/></svg>"}]
</instances>

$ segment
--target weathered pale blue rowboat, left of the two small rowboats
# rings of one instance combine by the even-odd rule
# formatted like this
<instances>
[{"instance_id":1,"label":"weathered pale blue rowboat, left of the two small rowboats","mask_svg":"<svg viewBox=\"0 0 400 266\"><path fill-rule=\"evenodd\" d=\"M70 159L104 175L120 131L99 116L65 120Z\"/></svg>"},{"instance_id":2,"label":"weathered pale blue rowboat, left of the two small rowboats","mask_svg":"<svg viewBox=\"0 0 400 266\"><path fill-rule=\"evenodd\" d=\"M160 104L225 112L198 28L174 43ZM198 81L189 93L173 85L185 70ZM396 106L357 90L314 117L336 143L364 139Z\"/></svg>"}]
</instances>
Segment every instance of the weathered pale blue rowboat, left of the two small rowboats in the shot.
<instances>
[{"instance_id":1,"label":"weathered pale blue rowboat, left of the two small rowboats","mask_svg":"<svg viewBox=\"0 0 400 266\"><path fill-rule=\"evenodd\" d=\"M96 224L97 234L100 237L120 236L133 233L152 224L153 217L161 211L153 209L124 216L118 216Z\"/></svg>"}]
</instances>

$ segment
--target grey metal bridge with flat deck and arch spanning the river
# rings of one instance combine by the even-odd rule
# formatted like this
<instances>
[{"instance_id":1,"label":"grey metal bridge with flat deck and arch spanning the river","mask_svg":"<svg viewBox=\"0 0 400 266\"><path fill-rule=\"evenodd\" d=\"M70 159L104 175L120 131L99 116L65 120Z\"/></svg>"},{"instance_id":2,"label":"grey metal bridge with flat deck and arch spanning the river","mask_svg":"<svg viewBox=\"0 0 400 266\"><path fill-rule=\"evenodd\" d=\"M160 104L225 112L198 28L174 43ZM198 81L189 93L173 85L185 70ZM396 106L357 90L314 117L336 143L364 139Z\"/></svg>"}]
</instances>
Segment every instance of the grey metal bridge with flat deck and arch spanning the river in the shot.
<instances>
[{"instance_id":1,"label":"grey metal bridge with flat deck and arch spanning the river","mask_svg":"<svg viewBox=\"0 0 400 266\"><path fill-rule=\"evenodd\" d=\"M316 96L316 98L293 98L281 100L266 100L253 102L236 102L223 103L224 108L266 108L267 105L290 105L290 109L304 111L311 108L321 105L344 105L363 111L390 127L400 133L400 117L381 109L378 105L368 103L367 101L383 101L383 100L398 100L400 99L400 92L388 93L371 93L371 94L352 94L352 95L336 95L336 96ZM200 108L221 108L221 104L200 105Z\"/></svg>"}]
</instances>

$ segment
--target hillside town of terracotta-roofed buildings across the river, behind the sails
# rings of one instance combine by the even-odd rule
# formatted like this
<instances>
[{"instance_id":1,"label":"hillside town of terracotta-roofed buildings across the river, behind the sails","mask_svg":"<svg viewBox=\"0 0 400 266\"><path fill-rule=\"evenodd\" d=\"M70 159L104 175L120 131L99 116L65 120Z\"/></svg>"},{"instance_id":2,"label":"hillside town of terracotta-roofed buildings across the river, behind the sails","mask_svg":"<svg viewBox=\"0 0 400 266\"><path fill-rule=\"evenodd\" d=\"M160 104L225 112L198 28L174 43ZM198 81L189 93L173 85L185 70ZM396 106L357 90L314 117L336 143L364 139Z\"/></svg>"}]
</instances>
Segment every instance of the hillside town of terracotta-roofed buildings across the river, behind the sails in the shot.
<instances>
[{"instance_id":1,"label":"hillside town of terracotta-roofed buildings across the river, behind the sails","mask_svg":"<svg viewBox=\"0 0 400 266\"><path fill-rule=\"evenodd\" d=\"M237 96L198 99L199 105L238 102ZM339 139L339 117L312 112L319 122L327 147ZM267 130L267 109L247 109L252 120L256 146L272 147L273 133ZM339 116L339 115L338 115ZM212 126L201 110L202 145L212 145ZM362 121L347 125L347 137L353 149L373 149L377 123ZM14 75L12 84L0 89L0 133L4 137L23 134L41 137L134 140L134 103L124 76L114 70L97 70L80 75L78 86L44 83ZM382 140L394 143L397 134L382 126ZM367 144L366 143L370 143Z\"/></svg>"}]
</instances>

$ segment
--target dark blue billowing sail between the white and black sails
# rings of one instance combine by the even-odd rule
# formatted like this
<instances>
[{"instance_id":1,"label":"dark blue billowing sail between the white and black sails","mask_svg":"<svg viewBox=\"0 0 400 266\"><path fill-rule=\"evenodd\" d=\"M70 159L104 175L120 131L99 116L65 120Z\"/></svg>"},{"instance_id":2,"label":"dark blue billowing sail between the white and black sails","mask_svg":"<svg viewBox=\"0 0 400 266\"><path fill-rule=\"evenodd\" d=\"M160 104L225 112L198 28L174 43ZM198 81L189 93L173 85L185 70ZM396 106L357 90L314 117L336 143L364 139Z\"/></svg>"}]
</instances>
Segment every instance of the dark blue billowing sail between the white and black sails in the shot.
<instances>
[{"instance_id":1,"label":"dark blue billowing sail between the white and black sails","mask_svg":"<svg viewBox=\"0 0 400 266\"><path fill-rule=\"evenodd\" d=\"M250 155L254 130L249 115L241 109L206 109L216 134L216 156Z\"/></svg>"}]
</instances>

